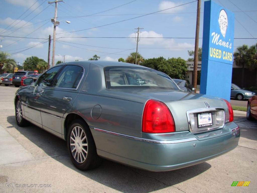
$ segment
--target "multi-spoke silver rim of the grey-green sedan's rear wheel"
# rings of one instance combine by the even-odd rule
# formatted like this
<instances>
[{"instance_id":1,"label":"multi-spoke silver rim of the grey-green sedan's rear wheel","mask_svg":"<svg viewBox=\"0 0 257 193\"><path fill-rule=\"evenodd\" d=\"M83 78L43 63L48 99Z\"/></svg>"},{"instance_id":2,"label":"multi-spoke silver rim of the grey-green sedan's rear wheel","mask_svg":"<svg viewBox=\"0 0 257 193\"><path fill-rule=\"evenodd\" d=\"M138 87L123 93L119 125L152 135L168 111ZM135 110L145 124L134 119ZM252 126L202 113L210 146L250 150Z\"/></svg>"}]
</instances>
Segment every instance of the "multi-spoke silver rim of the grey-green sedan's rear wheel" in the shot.
<instances>
[{"instance_id":1,"label":"multi-spoke silver rim of the grey-green sedan's rear wheel","mask_svg":"<svg viewBox=\"0 0 257 193\"><path fill-rule=\"evenodd\" d=\"M83 163L86 160L88 152L87 137L84 130L79 126L74 127L71 131L70 149L77 162Z\"/></svg>"}]
</instances>

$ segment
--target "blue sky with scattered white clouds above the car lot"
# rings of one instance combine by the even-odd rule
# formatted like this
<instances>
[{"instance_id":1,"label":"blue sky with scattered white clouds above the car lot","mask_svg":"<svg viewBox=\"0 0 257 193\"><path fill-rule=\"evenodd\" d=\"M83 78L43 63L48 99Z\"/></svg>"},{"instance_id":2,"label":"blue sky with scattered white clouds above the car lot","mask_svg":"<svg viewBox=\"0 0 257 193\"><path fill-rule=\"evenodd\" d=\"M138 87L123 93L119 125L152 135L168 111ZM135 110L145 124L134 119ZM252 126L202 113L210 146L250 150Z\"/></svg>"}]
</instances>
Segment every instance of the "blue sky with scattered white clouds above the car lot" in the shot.
<instances>
[{"instance_id":1,"label":"blue sky with scattered white clouds above the car lot","mask_svg":"<svg viewBox=\"0 0 257 193\"><path fill-rule=\"evenodd\" d=\"M234 50L243 44L255 45L257 1L213 1L234 12L234 38L252 38L234 39ZM0 45L3 46L0 50L11 54L21 64L30 56L47 61L48 38L53 36L54 4L45 0L1 0L0 4ZM60 25L56 30L55 63L63 61L64 55L65 62L88 60L95 54L100 60L126 59L136 51L135 28L138 27L143 28L138 52L144 58L163 56L187 60L188 50L194 50L195 45L196 11L195 0L65 0L58 3L57 21ZM149 14L154 12L158 13ZM202 46L203 12L204 0L201 1L199 47Z\"/></svg>"}]
</instances>

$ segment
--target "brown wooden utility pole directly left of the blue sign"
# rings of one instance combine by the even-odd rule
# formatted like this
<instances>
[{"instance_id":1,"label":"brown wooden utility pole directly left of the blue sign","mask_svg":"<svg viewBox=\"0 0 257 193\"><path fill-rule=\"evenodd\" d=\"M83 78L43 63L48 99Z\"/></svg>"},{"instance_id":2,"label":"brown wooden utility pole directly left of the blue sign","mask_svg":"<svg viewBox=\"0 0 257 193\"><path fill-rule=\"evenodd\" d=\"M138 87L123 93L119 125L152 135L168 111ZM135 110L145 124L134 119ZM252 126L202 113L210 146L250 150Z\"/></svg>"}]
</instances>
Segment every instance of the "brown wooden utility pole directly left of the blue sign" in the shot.
<instances>
[{"instance_id":1,"label":"brown wooden utility pole directly left of the blue sign","mask_svg":"<svg viewBox=\"0 0 257 193\"><path fill-rule=\"evenodd\" d=\"M199 44L199 26L200 26L201 0L197 1L196 31L195 31L195 56L194 56L194 88L197 88L197 64L198 64L198 44Z\"/></svg>"}]
</instances>

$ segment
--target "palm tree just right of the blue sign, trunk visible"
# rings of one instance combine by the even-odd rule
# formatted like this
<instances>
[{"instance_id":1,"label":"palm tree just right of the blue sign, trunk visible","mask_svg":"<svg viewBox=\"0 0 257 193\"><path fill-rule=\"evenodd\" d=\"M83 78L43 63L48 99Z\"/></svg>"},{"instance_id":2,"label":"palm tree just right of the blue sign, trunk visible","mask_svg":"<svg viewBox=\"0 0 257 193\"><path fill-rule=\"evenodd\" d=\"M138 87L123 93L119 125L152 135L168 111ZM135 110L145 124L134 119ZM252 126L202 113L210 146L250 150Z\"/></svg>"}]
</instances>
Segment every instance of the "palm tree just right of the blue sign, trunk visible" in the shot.
<instances>
[{"instance_id":1,"label":"palm tree just right of the blue sign, trunk visible","mask_svg":"<svg viewBox=\"0 0 257 193\"><path fill-rule=\"evenodd\" d=\"M244 86L244 68L252 66L252 58L253 58L253 48L248 49L247 45L237 47L236 51L234 52L234 61L237 66L242 67L242 79L241 79L241 87ZM255 51L256 52L256 51Z\"/></svg>"}]
</instances>

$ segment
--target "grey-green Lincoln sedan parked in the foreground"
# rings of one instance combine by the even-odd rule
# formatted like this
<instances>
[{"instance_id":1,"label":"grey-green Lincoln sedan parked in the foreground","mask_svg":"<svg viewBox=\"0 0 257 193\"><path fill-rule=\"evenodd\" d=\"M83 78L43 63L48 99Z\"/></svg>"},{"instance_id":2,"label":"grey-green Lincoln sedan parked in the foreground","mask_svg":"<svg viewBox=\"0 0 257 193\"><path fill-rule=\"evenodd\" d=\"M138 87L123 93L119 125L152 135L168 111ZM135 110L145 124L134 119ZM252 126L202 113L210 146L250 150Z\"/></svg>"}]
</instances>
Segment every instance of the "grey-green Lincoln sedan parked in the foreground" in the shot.
<instances>
[{"instance_id":1,"label":"grey-green Lincoln sedan parked in the foreground","mask_svg":"<svg viewBox=\"0 0 257 193\"><path fill-rule=\"evenodd\" d=\"M80 170L106 158L169 171L238 144L240 129L228 101L181 91L166 74L143 66L67 62L24 84L14 98L17 124L29 121L66 140Z\"/></svg>"}]
</instances>

